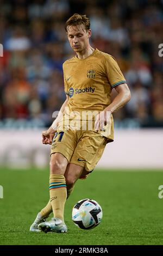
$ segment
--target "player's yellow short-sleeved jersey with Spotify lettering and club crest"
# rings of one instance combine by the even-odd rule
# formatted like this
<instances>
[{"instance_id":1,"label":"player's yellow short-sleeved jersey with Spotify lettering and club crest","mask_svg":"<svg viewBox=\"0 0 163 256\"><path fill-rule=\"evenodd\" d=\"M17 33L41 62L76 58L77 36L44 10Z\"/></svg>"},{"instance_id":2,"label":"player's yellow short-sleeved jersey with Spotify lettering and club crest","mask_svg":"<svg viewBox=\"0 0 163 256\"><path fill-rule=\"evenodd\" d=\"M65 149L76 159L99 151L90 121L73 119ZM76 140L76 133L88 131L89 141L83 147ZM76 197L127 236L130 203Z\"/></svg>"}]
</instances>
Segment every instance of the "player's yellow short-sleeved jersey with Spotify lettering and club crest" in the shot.
<instances>
[{"instance_id":1,"label":"player's yellow short-sleeved jersey with Spotify lettering and club crest","mask_svg":"<svg viewBox=\"0 0 163 256\"><path fill-rule=\"evenodd\" d=\"M126 83L115 58L97 48L85 59L74 56L66 60L63 71L65 94L69 96L68 111L80 113L83 119L83 112L103 111L110 105L112 88ZM104 131L98 132L108 138L108 142L114 140L112 115L110 124L104 127Z\"/></svg>"}]
</instances>

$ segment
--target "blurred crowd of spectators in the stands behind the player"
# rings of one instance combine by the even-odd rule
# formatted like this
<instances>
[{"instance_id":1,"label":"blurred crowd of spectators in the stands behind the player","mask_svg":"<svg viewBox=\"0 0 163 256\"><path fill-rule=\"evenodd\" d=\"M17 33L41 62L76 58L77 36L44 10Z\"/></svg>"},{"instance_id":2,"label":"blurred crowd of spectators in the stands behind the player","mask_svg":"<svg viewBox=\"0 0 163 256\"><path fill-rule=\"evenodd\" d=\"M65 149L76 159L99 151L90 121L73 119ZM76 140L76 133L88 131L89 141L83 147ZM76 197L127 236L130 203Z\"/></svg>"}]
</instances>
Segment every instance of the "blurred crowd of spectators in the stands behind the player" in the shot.
<instances>
[{"instance_id":1,"label":"blurred crowd of spectators in the stands behind the player","mask_svg":"<svg viewBox=\"0 0 163 256\"><path fill-rule=\"evenodd\" d=\"M52 123L65 100L64 30L74 13L91 20L91 45L117 59L131 100L114 114L142 127L163 126L163 1L17 0L0 2L0 118Z\"/></svg>"}]
</instances>

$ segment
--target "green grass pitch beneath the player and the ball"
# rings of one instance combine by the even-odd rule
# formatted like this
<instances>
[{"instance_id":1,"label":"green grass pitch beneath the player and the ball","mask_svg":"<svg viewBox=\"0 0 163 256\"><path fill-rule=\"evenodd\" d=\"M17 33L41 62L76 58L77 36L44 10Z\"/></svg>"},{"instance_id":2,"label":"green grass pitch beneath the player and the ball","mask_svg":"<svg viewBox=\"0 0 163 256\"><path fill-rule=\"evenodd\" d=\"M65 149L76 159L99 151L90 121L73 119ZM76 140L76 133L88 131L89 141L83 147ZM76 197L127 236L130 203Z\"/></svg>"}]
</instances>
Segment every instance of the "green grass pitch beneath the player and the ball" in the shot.
<instances>
[{"instance_id":1,"label":"green grass pitch beneath the player and the ball","mask_svg":"<svg viewBox=\"0 0 163 256\"><path fill-rule=\"evenodd\" d=\"M66 202L67 234L30 233L30 224L48 201L48 175L48 169L0 169L1 245L163 244L162 172L94 170L87 180L77 181ZM103 209L101 224L92 230L79 229L71 220L73 205L84 198L95 199Z\"/></svg>"}]
</instances>

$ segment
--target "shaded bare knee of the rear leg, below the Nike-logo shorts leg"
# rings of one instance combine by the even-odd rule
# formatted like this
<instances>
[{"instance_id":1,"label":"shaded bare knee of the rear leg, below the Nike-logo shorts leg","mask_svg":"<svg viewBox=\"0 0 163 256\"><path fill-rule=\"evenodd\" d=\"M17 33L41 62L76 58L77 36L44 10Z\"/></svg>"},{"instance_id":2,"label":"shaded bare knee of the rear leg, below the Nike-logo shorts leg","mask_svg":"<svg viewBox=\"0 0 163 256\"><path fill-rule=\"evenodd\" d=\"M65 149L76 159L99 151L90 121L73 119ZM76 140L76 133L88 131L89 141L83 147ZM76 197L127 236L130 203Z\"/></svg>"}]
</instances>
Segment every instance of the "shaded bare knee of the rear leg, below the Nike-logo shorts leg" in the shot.
<instances>
[{"instance_id":1,"label":"shaded bare knee of the rear leg, below the Nike-logo shorts leg","mask_svg":"<svg viewBox=\"0 0 163 256\"><path fill-rule=\"evenodd\" d=\"M66 179L66 184L67 185L74 184L82 175L83 171L84 171L84 167L79 166L78 164L68 163L65 174L64 174Z\"/></svg>"}]
</instances>

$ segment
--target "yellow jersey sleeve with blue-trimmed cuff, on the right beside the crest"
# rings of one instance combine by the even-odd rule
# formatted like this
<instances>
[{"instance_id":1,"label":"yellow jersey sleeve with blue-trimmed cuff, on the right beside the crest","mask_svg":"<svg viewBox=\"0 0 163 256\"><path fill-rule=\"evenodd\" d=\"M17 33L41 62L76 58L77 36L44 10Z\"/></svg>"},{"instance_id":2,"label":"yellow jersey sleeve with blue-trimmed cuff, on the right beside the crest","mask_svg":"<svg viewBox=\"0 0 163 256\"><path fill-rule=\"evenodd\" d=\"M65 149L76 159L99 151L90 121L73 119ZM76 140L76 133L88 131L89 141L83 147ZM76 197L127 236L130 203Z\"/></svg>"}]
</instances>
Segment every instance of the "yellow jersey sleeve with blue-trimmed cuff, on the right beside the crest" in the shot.
<instances>
[{"instance_id":1,"label":"yellow jersey sleeve with blue-trimmed cuff, on the right beside the crest","mask_svg":"<svg viewBox=\"0 0 163 256\"><path fill-rule=\"evenodd\" d=\"M115 58L109 54L107 54L105 57L105 67L111 88L126 83L118 63L116 62Z\"/></svg>"}]
</instances>

